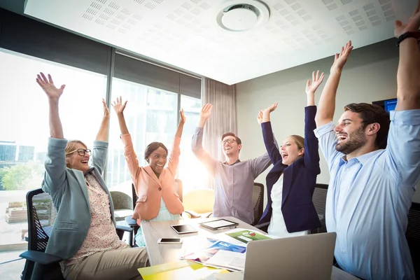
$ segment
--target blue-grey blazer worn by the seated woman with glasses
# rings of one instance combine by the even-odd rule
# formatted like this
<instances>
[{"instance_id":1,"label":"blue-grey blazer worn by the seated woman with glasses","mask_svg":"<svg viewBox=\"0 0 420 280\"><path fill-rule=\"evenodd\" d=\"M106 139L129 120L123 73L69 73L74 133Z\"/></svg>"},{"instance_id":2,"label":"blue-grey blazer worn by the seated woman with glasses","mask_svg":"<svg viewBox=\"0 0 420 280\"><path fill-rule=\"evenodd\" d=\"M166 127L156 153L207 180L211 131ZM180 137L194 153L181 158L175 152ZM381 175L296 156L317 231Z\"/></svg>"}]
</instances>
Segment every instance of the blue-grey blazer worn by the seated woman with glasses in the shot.
<instances>
[{"instance_id":1,"label":"blue-grey blazer worn by the seated woman with glasses","mask_svg":"<svg viewBox=\"0 0 420 280\"><path fill-rule=\"evenodd\" d=\"M66 167L66 139L48 139L47 160L42 189L52 198L57 209L57 219L45 253L62 259L71 258L85 241L90 226L90 203L83 172ZM92 151L93 167L90 169L109 196L111 217L114 225L113 202L102 172L106 164L108 143L94 141Z\"/></svg>"}]
</instances>

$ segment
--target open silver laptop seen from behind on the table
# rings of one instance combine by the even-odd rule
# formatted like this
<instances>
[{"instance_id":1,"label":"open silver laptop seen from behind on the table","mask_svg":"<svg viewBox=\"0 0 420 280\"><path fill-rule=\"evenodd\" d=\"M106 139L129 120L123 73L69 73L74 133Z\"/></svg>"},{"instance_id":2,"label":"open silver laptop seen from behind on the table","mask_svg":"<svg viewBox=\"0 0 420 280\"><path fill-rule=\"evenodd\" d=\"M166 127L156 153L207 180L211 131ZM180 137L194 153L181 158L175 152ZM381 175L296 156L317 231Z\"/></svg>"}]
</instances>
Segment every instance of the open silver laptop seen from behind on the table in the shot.
<instances>
[{"instance_id":1,"label":"open silver laptop seen from behind on the table","mask_svg":"<svg viewBox=\"0 0 420 280\"><path fill-rule=\"evenodd\" d=\"M335 232L326 232L249 242L244 280L330 280L335 237Z\"/></svg>"}]
</instances>

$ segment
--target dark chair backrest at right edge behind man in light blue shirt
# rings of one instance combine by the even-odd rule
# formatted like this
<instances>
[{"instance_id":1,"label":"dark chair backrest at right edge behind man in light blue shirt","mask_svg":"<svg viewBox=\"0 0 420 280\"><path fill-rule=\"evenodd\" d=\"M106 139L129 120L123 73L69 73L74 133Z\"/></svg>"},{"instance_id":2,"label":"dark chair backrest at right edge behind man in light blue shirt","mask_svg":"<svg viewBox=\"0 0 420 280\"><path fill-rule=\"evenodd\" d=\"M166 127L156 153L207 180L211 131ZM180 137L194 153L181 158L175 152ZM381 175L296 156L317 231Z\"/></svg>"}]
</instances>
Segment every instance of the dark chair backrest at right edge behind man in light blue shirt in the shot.
<instances>
[{"instance_id":1,"label":"dark chair backrest at right edge behind man in light blue shirt","mask_svg":"<svg viewBox=\"0 0 420 280\"><path fill-rule=\"evenodd\" d=\"M417 279L420 279L420 203L412 202L405 237L412 255L414 272Z\"/></svg>"}]
</instances>

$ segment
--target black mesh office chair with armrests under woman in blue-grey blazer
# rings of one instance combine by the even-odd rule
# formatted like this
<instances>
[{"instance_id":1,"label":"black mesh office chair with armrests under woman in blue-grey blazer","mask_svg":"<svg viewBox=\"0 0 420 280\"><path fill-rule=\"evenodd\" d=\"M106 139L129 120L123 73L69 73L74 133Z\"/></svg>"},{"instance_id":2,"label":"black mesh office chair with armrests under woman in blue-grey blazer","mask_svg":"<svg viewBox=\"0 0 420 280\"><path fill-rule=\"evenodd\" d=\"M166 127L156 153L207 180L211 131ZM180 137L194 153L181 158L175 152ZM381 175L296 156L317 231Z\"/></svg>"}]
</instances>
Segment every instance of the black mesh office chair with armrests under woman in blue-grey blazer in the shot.
<instances>
[{"instance_id":1,"label":"black mesh office chair with armrests under woman in blue-grey blazer","mask_svg":"<svg viewBox=\"0 0 420 280\"><path fill-rule=\"evenodd\" d=\"M25 258L25 267L20 279L63 279L59 262L62 260L57 255L45 253L48 240L54 228L57 211L52 204L51 197L44 193L41 188L30 190L27 193L27 214L28 214L28 251L20 254L20 258ZM123 238L125 231L132 231L131 228L116 226L118 237ZM69 240L64 240L69 242ZM38 263L41 269L36 269Z\"/></svg>"}]
</instances>

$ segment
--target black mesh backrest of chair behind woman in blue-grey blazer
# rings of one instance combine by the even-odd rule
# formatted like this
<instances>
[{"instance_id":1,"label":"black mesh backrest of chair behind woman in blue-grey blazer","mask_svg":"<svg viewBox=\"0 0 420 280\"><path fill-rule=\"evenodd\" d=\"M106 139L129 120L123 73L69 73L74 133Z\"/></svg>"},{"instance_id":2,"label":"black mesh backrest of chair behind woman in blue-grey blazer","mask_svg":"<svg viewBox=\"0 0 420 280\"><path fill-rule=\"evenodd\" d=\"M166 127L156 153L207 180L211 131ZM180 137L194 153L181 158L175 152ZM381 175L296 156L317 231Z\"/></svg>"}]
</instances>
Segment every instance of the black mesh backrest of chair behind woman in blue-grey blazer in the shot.
<instances>
[{"instance_id":1,"label":"black mesh backrest of chair behind woman in blue-grey blazer","mask_svg":"<svg viewBox=\"0 0 420 280\"><path fill-rule=\"evenodd\" d=\"M54 228L57 211L41 188L27 193L28 249L44 252Z\"/></svg>"}]
</instances>

